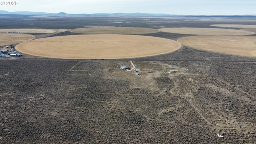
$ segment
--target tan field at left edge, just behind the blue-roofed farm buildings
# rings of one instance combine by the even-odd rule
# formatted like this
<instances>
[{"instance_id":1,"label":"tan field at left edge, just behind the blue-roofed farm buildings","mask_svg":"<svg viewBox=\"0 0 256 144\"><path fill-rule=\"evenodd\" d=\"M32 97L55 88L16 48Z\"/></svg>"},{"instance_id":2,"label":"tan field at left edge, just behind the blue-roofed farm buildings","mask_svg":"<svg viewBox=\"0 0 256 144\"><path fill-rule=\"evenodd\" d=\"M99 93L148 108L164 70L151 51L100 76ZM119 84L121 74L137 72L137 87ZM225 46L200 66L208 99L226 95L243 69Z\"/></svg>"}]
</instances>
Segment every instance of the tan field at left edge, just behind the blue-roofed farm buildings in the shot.
<instances>
[{"instance_id":1,"label":"tan field at left edge, just behind the blue-roofed farm buildings","mask_svg":"<svg viewBox=\"0 0 256 144\"><path fill-rule=\"evenodd\" d=\"M0 46L7 46L10 44L17 44L20 42L26 42L36 38L30 34L8 34L0 33Z\"/></svg>"}]
</instances>

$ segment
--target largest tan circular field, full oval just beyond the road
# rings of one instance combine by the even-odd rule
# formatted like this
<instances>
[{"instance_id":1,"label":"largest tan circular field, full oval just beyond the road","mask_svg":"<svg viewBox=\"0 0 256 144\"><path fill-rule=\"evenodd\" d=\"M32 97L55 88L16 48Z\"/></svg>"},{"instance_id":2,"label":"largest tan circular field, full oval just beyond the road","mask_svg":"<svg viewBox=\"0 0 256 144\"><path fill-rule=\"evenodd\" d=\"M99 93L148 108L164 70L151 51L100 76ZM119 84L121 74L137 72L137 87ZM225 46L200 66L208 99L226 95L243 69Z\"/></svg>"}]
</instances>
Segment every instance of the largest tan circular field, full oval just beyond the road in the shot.
<instances>
[{"instance_id":1,"label":"largest tan circular field, full oval just beyond the road","mask_svg":"<svg viewBox=\"0 0 256 144\"><path fill-rule=\"evenodd\" d=\"M83 34L40 38L18 44L15 49L48 58L117 59L165 54L181 46L177 41L152 36Z\"/></svg>"}]
</instances>

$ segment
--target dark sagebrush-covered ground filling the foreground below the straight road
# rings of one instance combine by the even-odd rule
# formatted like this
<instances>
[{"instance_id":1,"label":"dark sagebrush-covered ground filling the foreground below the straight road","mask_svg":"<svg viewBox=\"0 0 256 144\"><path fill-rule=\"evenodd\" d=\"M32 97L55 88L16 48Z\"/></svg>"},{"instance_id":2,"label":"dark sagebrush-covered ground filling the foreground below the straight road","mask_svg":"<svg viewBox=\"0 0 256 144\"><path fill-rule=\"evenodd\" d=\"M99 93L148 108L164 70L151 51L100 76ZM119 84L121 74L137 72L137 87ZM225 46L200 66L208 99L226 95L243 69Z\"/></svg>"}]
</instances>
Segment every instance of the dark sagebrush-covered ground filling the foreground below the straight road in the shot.
<instances>
[{"instance_id":1,"label":"dark sagebrush-covered ground filling the foreground below the straight road","mask_svg":"<svg viewBox=\"0 0 256 144\"><path fill-rule=\"evenodd\" d=\"M133 63L2 60L0 141L255 143L255 62Z\"/></svg>"}]
</instances>

